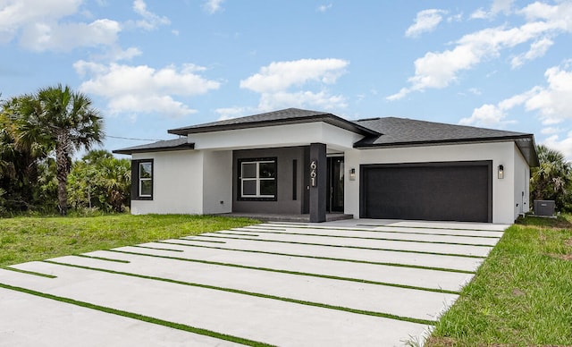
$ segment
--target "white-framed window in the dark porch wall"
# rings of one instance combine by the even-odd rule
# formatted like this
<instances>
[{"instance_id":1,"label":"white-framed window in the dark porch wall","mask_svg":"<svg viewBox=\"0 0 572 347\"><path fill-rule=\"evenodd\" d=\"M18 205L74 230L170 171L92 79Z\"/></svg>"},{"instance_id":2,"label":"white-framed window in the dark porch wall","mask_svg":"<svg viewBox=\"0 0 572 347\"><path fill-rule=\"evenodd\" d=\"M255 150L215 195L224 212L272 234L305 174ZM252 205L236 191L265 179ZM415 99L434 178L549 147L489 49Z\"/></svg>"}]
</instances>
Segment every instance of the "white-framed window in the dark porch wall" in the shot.
<instances>
[{"instance_id":1,"label":"white-framed window in the dark porch wall","mask_svg":"<svg viewBox=\"0 0 572 347\"><path fill-rule=\"evenodd\" d=\"M276 199L276 158L239 161L239 199Z\"/></svg>"}]
</instances>

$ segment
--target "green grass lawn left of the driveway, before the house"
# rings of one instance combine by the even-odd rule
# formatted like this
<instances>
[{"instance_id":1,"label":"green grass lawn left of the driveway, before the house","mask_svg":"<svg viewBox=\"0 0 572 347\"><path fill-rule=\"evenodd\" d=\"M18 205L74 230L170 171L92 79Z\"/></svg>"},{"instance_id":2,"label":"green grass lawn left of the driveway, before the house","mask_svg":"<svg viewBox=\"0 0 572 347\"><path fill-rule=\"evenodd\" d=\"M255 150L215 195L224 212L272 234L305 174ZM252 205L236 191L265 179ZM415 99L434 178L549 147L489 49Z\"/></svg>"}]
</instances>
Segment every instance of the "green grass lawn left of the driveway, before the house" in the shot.
<instances>
[{"instance_id":1,"label":"green grass lawn left of the driveway, before the house","mask_svg":"<svg viewBox=\"0 0 572 347\"><path fill-rule=\"evenodd\" d=\"M0 267L255 223L187 215L0 218Z\"/></svg>"}]
</instances>

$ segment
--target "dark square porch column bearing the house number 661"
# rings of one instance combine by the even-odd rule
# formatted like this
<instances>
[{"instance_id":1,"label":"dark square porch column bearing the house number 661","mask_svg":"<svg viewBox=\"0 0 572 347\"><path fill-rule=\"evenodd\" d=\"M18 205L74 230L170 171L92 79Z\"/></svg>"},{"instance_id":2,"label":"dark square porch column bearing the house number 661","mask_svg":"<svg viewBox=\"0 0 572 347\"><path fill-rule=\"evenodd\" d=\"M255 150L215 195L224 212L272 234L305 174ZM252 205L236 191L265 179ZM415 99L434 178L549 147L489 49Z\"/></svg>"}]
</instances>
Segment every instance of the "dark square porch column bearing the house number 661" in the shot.
<instances>
[{"instance_id":1,"label":"dark square porch column bearing the house number 661","mask_svg":"<svg viewBox=\"0 0 572 347\"><path fill-rule=\"evenodd\" d=\"M328 165L325 144L310 144L310 222L325 222Z\"/></svg>"}]
</instances>

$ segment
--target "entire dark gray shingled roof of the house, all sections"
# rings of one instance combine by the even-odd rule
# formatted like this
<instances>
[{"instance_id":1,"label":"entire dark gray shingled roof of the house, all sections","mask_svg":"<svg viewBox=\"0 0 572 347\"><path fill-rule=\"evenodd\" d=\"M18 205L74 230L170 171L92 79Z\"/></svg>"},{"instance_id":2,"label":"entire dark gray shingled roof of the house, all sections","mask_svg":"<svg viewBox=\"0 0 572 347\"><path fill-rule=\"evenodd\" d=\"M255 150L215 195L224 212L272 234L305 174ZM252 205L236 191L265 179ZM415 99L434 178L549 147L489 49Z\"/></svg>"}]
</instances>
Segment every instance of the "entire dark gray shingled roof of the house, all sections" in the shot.
<instances>
[{"instance_id":1,"label":"entire dark gray shingled roof of the house, all sections","mask_svg":"<svg viewBox=\"0 0 572 347\"><path fill-rule=\"evenodd\" d=\"M363 135L364 138L354 144L355 148L411 147L431 144L510 140L517 144L528 165L538 165L538 157L534 147L534 135L529 133L417 121L397 117L370 118L352 122L335 114L299 108L287 108L264 114L254 114L246 117L172 129L168 132L185 136L185 138L118 149L115 150L114 153L132 154L192 149L194 148L194 143L187 143L186 136L193 133L314 122L329 123L341 129Z\"/></svg>"}]
</instances>

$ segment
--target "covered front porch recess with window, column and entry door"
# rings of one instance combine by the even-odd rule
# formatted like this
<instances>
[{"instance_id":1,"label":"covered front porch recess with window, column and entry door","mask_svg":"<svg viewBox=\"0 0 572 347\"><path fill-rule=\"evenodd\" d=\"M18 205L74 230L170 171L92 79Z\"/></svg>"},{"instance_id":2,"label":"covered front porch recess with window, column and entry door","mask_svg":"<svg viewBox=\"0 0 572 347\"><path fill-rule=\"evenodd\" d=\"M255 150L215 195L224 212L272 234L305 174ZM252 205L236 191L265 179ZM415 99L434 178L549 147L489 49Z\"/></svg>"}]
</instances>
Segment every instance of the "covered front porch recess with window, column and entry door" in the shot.
<instances>
[{"instance_id":1,"label":"covered front porch recess with window, column and entry door","mask_svg":"<svg viewBox=\"0 0 572 347\"><path fill-rule=\"evenodd\" d=\"M232 150L233 214L325 222L344 212L344 153L324 143ZM339 218L339 216L335 216Z\"/></svg>"}]
</instances>

